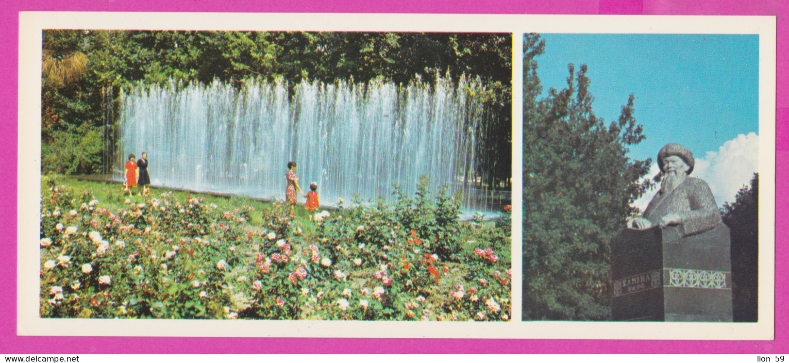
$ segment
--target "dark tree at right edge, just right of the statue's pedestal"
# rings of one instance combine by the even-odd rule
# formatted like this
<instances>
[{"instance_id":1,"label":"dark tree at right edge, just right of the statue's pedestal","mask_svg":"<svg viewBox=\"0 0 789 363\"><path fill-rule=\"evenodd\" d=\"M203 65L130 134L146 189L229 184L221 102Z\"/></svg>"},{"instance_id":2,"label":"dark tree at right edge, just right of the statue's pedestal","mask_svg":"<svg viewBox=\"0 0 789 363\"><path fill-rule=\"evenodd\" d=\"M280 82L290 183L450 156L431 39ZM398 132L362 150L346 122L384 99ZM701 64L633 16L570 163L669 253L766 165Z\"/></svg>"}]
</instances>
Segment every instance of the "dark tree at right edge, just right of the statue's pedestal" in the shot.
<instances>
[{"instance_id":1,"label":"dark tree at right edge, just right of the statue's pedestal","mask_svg":"<svg viewBox=\"0 0 789 363\"><path fill-rule=\"evenodd\" d=\"M734 203L721 208L731 229L731 280L734 320L758 320L759 292L759 174L739 189Z\"/></svg>"}]
</instances>

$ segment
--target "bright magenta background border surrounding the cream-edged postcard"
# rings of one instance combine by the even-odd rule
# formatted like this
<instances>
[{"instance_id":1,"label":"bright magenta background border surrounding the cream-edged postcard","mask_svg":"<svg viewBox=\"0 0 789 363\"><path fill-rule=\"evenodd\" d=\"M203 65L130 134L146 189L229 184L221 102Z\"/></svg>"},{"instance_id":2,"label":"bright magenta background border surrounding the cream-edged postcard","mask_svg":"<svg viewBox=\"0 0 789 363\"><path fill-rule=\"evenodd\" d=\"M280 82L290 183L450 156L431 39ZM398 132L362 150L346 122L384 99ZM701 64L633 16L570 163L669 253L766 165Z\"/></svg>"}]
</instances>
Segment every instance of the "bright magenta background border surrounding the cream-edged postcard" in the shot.
<instances>
[{"instance_id":1,"label":"bright magenta background border surrounding the cream-edged postcard","mask_svg":"<svg viewBox=\"0 0 789 363\"><path fill-rule=\"evenodd\" d=\"M776 339L770 341L579 339L252 339L17 336L17 62L20 11L166 11L239 13L514 13L777 16L776 190L789 186L789 6L782 0L9 0L0 9L2 158L0 193L0 354L785 354L789 348L787 279L776 279ZM776 276L787 275L789 195L776 196Z\"/></svg>"}]
</instances>

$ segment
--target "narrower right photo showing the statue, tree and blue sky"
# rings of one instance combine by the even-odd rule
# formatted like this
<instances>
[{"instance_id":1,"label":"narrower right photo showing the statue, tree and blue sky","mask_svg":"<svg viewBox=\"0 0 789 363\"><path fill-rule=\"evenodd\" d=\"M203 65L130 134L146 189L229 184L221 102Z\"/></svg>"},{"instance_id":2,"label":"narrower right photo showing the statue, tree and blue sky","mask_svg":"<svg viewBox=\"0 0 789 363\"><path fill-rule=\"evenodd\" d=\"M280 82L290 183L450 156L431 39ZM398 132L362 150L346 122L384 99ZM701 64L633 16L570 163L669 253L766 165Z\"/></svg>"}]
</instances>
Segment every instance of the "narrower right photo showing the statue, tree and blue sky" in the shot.
<instances>
[{"instance_id":1,"label":"narrower right photo showing the statue, tree and blue sky","mask_svg":"<svg viewBox=\"0 0 789 363\"><path fill-rule=\"evenodd\" d=\"M756 322L759 36L522 40L522 320Z\"/></svg>"}]
</instances>

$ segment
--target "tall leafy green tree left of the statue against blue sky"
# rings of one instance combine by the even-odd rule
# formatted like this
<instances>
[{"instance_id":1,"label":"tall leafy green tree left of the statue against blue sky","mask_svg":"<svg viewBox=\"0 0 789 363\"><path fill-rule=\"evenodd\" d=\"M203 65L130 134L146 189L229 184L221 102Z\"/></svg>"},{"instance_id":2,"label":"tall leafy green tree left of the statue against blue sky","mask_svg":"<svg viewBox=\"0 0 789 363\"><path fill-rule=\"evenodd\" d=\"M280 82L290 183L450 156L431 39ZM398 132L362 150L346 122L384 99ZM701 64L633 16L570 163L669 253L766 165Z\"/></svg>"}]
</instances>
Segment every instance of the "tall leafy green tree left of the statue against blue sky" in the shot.
<instances>
[{"instance_id":1,"label":"tall leafy green tree left of the statue against blue sky","mask_svg":"<svg viewBox=\"0 0 789 363\"><path fill-rule=\"evenodd\" d=\"M567 88L543 99L539 36L524 39L523 316L525 320L607 320L610 243L652 182L650 159L631 160L644 139L634 95L606 125L592 110L586 65L568 65Z\"/></svg>"}]
</instances>

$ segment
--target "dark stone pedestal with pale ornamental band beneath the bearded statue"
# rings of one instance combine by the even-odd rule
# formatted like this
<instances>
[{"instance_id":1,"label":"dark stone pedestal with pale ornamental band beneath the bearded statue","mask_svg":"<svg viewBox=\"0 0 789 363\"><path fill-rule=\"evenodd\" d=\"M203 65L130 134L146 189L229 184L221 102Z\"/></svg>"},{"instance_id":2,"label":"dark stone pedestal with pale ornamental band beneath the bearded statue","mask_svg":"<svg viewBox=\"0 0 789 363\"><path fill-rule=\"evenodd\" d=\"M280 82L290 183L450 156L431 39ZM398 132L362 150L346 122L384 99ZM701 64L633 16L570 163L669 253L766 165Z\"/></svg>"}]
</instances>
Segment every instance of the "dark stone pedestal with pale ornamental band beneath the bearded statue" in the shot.
<instances>
[{"instance_id":1,"label":"dark stone pedestal with pale ornamental band beneath the bearded statue","mask_svg":"<svg viewBox=\"0 0 789 363\"><path fill-rule=\"evenodd\" d=\"M729 228L624 230L611 245L613 320L731 321Z\"/></svg>"}]
</instances>

